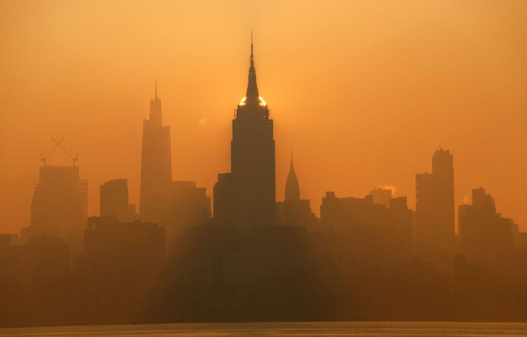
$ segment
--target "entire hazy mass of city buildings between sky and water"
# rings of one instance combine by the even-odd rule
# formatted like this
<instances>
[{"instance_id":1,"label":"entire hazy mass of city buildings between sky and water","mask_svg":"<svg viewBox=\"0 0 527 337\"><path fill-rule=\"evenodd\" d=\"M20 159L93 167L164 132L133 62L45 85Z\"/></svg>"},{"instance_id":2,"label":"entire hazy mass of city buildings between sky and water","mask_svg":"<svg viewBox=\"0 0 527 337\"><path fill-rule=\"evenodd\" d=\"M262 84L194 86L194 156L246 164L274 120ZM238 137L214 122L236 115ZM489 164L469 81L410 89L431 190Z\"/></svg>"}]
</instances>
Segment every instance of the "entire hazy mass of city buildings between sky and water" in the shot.
<instances>
[{"instance_id":1,"label":"entire hazy mass of city buildings between sky and water","mask_svg":"<svg viewBox=\"0 0 527 337\"><path fill-rule=\"evenodd\" d=\"M527 233L480 187L459 206L456 234L449 150L415 176L415 211L387 188L359 198L327 191L317 218L292 151L277 201L274 121L252 42L249 61L213 209L206 188L172 180L157 83L138 210L128 180L114 179L100 186L100 216L88 218L77 157L62 167L43 156L31 223L0 234L0 326L527 318Z\"/></svg>"}]
</instances>

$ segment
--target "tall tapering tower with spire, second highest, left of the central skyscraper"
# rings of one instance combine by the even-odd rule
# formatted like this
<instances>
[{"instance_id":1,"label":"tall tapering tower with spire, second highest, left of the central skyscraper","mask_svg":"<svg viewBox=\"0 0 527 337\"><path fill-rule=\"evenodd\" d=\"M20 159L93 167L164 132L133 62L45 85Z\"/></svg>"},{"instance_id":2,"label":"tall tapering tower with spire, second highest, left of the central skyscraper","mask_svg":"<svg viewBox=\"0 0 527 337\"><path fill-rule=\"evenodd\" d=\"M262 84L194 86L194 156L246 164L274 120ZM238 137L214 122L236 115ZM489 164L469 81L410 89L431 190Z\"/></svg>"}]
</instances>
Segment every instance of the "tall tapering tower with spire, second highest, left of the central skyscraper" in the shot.
<instances>
[{"instance_id":1,"label":"tall tapering tower with spire, second highest, left of the central skyscraper","mask_svg":"<svg viewBox=\"0 0 527 337\"><path fill-rule=\"evenodd\" d=\"M167 197L171 181L170 126L163 126L156 81L155 97L150 100L150 114L143 119L139 197L141 219L160 222L161 205Z\"/></svg>"}]
</instances>

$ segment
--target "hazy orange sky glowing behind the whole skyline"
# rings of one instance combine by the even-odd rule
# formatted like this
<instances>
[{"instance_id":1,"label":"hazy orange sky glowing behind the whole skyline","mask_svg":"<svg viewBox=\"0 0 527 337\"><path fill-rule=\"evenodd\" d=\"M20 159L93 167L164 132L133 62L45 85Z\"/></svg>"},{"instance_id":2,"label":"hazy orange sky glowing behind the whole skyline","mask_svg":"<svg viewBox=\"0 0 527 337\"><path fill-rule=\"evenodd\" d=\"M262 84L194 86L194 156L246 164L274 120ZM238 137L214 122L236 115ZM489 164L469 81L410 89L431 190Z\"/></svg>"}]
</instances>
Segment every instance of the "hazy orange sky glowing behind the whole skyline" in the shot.
<instances>
[{"instance_id":1,"label":"hazy orange sky glowing behind the whole skyline","mask_svg":"<svg viewBox=\"0 0 527 337\"><path fill-rule=\"evenodd\" d=\"M155 78L173 178L211 195L230 170L251 28L275 120L277 200L292 145L301 197L317 214L326 190L359 197L384 184L415 208L415 173L431 171L440 145L454 155L456 208L483 186L527 231L522 0L2 1L0 231L30 223L51 137L79 153L90 215L112 178L128 178L138 203Z\"/></svg>"}]
</instances>

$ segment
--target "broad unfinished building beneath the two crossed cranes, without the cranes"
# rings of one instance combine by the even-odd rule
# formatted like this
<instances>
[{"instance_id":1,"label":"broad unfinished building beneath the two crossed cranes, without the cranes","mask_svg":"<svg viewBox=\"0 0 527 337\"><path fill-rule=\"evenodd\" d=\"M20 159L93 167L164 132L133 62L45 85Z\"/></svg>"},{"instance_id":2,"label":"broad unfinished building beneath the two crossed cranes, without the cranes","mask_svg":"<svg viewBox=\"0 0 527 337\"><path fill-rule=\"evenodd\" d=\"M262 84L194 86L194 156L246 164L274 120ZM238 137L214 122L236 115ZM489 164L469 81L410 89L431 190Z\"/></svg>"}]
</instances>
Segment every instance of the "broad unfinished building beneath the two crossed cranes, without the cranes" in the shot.
<instances>
[{"instance_id":1,"label":"broad unfinished building beneath the two crossed cranes, without the cranes","mask_svg":"<svg viewBox=\"0 0 527 337\"><path fill-rule=\"evenodd\" d=\"M40 181L31 203L31 225L21 229L21 240L34 237L66 238L77 250L87 216L86 180L78 166L41 166Z\"/></svg>"}]
</instances>

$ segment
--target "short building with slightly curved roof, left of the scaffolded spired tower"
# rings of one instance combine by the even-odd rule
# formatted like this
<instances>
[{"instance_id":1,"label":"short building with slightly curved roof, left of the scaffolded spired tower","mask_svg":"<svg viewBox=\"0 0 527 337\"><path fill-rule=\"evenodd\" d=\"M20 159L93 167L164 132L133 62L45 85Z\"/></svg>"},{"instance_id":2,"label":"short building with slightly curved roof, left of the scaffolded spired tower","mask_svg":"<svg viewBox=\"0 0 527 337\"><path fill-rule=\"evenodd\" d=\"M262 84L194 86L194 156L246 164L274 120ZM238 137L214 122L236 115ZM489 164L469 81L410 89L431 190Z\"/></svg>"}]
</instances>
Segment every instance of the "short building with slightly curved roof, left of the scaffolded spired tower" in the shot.
<instances>
[{"instance_id":1,"label":"short building with slightly curved roof, left of the scaffolded spired tower","mask_svg":"<svg viewBox=\"0 0 527 337\"><path fill-rule=\"evenodd\" d=\"M101 217L115 216L119 221L135 218L135 205L128 203L128 180L113 179L100 187Z\"/></svg>"}]
</instances>

